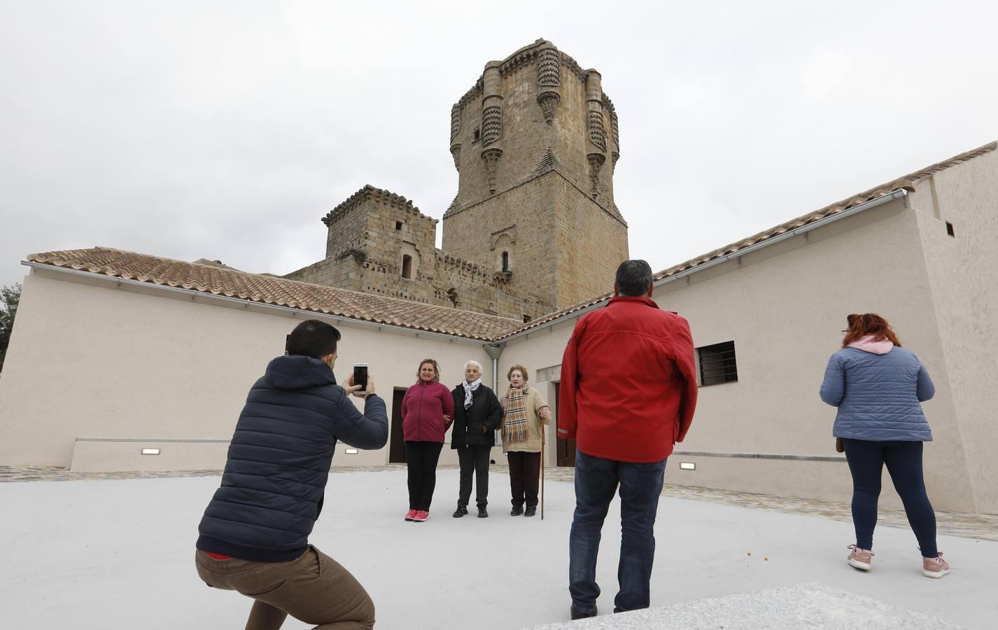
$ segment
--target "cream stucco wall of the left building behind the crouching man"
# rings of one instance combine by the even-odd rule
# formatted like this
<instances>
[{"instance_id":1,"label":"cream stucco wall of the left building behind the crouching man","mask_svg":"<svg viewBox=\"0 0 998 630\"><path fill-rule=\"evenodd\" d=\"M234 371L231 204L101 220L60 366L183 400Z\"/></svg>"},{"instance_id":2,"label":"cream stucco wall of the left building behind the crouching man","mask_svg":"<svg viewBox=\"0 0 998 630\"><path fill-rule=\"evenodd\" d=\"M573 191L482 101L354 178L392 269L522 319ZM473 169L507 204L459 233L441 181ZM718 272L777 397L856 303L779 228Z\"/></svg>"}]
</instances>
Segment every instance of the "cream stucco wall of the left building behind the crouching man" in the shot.
<instances>
[{"instance_id":1,"label":"cream stucco wall of the left building behind the crouching man","mask_svg":"<svg viewBox=\"0 0 998 630\"><path fill-rule=\"evenodd\" d=\"M155 438L229 439L250 385L283 352L285 334L312 316L115 287L46 270L25 279L0 377L0 464L69 466L77 437L143 438L150 445ZM389 415L393 388L415 382L419 361L427 356L437 359L448 386L461 380L470 358L491 379L491 361L480 343L330 322L343 335L337 379L344 381L354 362L368 363ZM155 469L149 459L156 456L134 454L142 445L85 443L74 465L95 469L105 460L122 469L132 457L135 469ZM163 448L159 465L168 448L170 458L187 469L225 463L206 465L215 460L211 453L217 458L218 447ZM388 461L388 446L356 455L344 448L337 445L335 465ZM501 457L500 450L494 457ZM445 446L441 462L456 461Z\"/></svg>"}]
</instances>

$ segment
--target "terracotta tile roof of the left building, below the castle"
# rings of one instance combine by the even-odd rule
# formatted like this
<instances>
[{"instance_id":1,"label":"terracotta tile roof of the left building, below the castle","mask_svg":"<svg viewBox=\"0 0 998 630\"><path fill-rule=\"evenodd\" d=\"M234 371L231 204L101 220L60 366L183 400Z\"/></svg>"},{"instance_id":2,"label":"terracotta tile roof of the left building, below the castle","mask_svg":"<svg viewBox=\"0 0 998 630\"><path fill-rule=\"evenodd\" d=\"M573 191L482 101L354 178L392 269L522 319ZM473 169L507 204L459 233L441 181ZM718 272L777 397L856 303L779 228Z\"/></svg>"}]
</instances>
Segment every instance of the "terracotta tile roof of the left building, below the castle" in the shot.
<instances>
[{"instance_id":1,"label":"terracotta tile roof of the left building, below the castle","mask_svg":"<svg viewBox=\"0 0 998 630\"><path fill-rule=\"evenodd\" d=\"M414 330L490 340L522 324L517 319L309 285L231 268L185 263L111 248L32 254L28 261L182 288L215 296L337 315Z\"/></svg>"}]
</instances>

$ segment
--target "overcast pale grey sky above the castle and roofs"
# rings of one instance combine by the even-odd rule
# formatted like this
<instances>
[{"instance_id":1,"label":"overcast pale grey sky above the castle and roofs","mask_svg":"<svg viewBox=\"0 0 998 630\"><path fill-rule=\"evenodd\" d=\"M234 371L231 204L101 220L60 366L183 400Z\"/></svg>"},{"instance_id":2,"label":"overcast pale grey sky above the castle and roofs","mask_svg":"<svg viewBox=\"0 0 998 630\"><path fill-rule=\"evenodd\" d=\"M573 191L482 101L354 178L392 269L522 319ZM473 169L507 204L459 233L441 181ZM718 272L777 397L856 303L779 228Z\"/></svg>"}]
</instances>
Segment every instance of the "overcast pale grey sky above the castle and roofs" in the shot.
<instances>
[{"instance_id":1,"label":"overcast pale grey sky above the castle and roofs","mask_svg":"<svg viewBox=\"0 0 998 630\"><path fill-rule=\"evenodd\" d=\"M0 9L0 285L97 245L286 274L364 184L440 218L451 104L539 37L603 75L657 271L998 138L991 2Z\"/></svg>"}]
</instances>

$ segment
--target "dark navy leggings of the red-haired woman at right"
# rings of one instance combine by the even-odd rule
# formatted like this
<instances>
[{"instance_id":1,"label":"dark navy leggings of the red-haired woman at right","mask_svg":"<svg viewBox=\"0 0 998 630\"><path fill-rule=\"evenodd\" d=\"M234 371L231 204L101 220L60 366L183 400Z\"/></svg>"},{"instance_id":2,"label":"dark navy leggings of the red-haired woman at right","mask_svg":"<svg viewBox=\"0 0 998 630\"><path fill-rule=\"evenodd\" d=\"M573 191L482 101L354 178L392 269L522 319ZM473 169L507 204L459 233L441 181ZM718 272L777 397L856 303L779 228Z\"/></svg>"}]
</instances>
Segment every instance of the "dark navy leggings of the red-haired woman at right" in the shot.
<instances>
[{"instance_id":1,"label":"dark navy leggings of the red-haired woman at right","mask_svg":"<svg viewBox=\"0 0 998 630\"><path fill-rule=\"evenodd\" d=\"M865 439L843 439L845 458L852 473L852 523L856 527L856 546L873 548L873 528L876 526L876 503L880 496L880 475L883 465L894 482L904 513L922 556L938 555L935 540L935 512L925 494L922 478L922 443L907 441L876 442Z\"/></svg>"}]
</instances>

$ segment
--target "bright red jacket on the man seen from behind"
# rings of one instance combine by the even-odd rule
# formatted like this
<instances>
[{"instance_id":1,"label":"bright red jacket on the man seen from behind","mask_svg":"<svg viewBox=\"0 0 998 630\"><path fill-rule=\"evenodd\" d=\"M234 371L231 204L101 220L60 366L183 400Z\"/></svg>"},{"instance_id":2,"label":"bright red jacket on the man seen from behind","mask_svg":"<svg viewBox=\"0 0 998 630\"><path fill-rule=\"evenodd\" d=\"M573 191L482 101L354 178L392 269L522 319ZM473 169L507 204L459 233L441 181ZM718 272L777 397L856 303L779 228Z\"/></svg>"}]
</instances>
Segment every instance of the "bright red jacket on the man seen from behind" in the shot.
<instances>
[{"instance_id":1,"label":"bright red jacket on the man seen from behind","mask_svg":"<svg viewBox=\"0 0 998 630\"><path fill-rule=\"evenodd\" d=\"M558 436L605 459L665 459L697 406L693 352L687 320L648 298L582 317L562 359Z\"/></svg>"}]
</instances>

